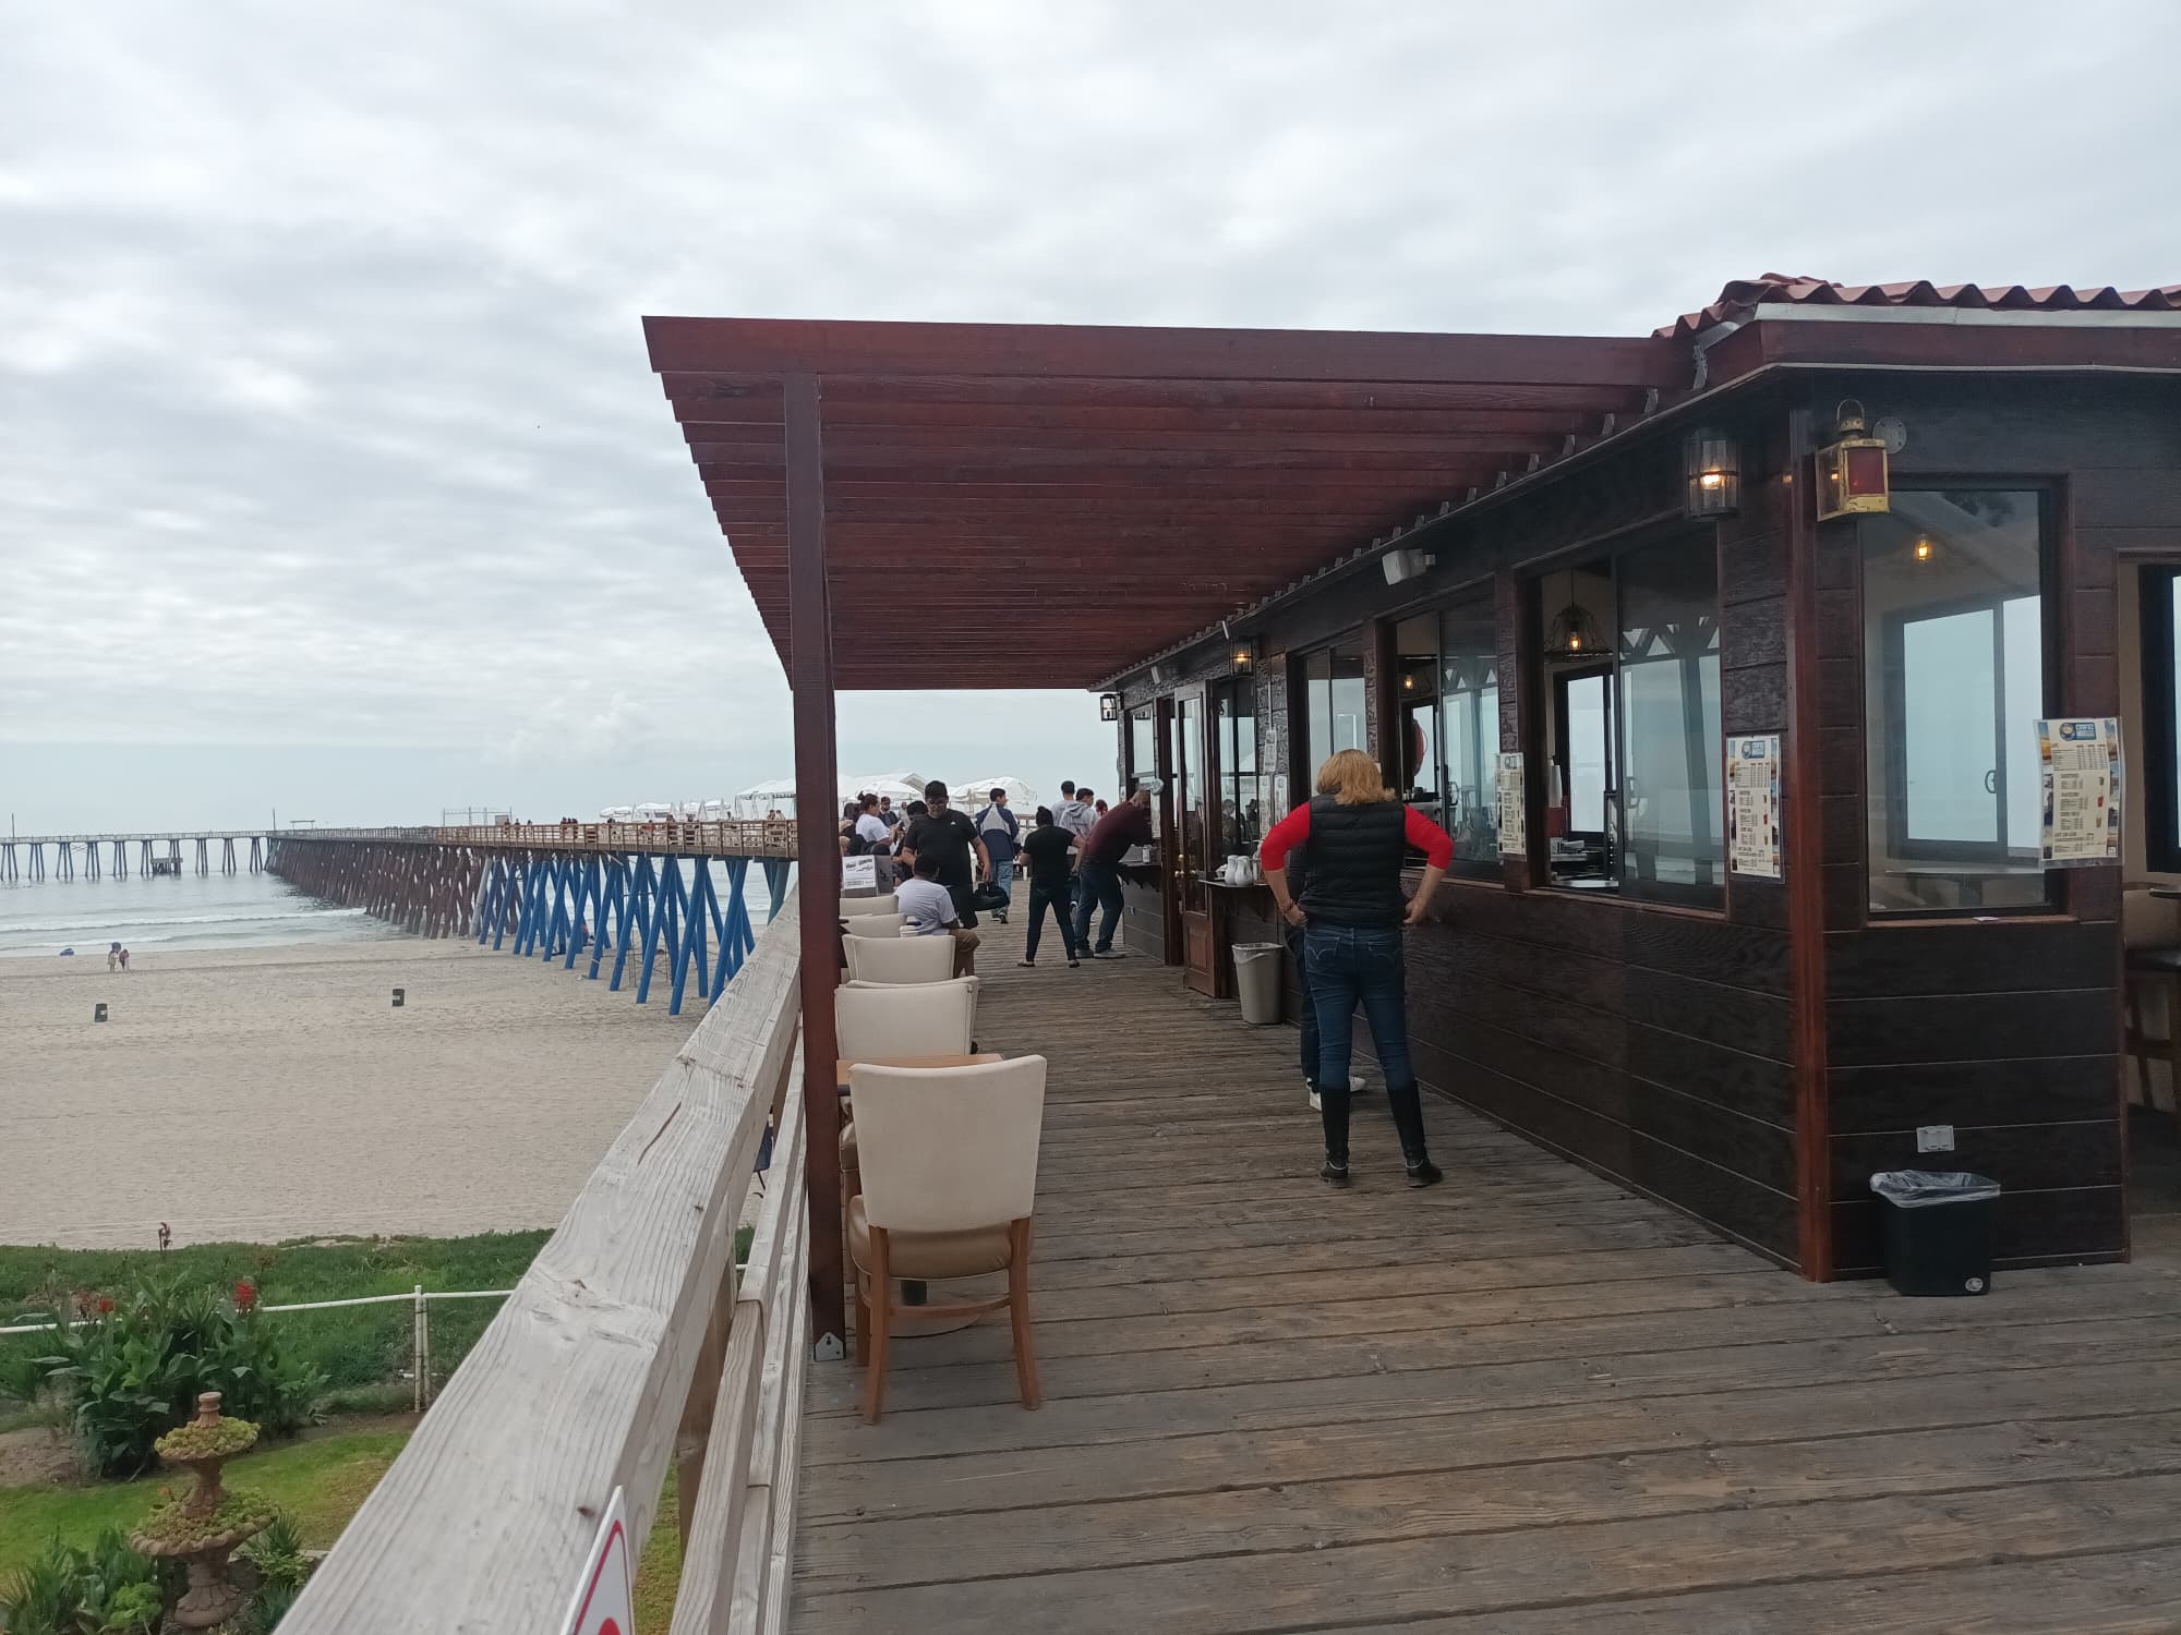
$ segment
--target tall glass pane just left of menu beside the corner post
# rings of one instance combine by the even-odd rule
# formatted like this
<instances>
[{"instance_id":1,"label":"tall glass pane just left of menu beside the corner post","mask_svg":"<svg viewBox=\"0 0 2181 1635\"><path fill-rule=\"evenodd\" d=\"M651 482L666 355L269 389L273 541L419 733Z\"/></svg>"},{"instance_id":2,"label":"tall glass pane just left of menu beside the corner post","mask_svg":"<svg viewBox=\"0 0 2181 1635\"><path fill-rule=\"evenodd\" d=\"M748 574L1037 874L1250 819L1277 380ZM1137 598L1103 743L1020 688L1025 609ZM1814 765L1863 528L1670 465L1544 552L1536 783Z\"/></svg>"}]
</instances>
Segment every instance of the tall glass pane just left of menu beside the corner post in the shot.
<instances>
[{"instance_id":1,"label":"tall glass pane just left of menu beside the corner post","mask_svg":"<svg viewBox=\"0 0 2181 1635\"><path fill-rule=\"evenodd\" d=\"M1614 578L1620 602L1620 889L1716 900L1725 885L1719 787L1725 735L1712 534L1631 552L1618 560Z\"/></svg>"}]
</instances>

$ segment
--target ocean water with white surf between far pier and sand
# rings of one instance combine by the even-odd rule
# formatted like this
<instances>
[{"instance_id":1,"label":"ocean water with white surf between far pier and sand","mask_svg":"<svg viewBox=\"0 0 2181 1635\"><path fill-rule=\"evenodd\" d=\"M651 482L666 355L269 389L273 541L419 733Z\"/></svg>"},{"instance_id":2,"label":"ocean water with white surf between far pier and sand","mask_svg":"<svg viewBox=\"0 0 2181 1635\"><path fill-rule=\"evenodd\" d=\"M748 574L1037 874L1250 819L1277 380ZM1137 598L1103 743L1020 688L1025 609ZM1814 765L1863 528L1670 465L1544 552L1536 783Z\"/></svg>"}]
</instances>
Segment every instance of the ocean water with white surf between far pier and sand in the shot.
<instances>
[{"instance_id":1,"label":"ocean water with white surf between far pier and sand","mask_svg":"<svg viewBox=\"0 0 2181 1635\"><path fill-rule=\"evenodd\" d=\"M46 861L50 868L52 848ZM129 953L172 953L399 935L362 909L336 909L270 874L0 881L0 959L52 959L61 948L105 959L109 942Z\"/></svg>"}]
</instances>

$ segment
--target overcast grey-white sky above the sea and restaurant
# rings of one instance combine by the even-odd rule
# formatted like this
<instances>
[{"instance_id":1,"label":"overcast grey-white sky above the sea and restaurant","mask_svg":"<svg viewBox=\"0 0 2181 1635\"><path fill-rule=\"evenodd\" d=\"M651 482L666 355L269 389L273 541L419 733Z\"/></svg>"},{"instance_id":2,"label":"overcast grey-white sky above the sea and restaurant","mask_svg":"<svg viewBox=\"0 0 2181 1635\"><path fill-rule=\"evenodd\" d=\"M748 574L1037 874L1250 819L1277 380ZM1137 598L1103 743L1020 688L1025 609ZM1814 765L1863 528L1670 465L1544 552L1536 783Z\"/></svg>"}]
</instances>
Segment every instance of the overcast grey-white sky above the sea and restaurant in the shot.
<instances>
[{"instance_id":1,"label":"overcast grey-white sky above the sea and restaurant","mask_svg":"<svg viewBox=\"0 0 2181 1635\"><path fill-rule=\"evenodd\" d=\"M1644 334L1764 270L2181 279L2172 4L0 22L24 833L790 770L648 312ZM1067 630L997 591L966 637L1008 689ZM1112 750L1075 693L846 695L842 763L1051 787Z\"/></svg>"}]
</instances>

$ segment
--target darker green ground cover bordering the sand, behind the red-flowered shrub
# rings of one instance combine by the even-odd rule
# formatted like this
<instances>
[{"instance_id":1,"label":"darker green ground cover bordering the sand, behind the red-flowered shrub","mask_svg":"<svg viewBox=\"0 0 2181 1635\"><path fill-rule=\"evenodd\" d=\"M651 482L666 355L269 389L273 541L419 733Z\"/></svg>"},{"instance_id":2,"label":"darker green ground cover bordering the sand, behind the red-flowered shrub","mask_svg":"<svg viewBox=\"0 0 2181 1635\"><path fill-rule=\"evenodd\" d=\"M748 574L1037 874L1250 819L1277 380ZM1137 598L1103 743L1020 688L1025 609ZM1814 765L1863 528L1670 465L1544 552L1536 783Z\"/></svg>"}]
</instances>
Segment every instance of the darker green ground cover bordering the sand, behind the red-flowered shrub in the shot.
<instances>
[{"instance_id":1,"label":"darker green ground cover bordering the sand, behind the red-flowered shrub","mask_svg":"<svg viewBox=\"0 0 2181 1635\"><path fill-rule=\"evenodd\" d=\"M489 1232L473 1238L312 1238L294 1243L201 1243L166 1254L142 1249L0 1247L0 1325L70 1306L74 1291L116 1291L142 1277L192 1277L214 1288L255 1284L262 1306L356 1295L406 1295L425 1288L513 1288L547 1232ZM499 1310L497 1299L432 1306L432 1373L445 1380ZM336 1406L406 1406L408 1389L386 1400L386 1382L410 1365L408 1306L358 1306L336 1312L279 1312L281 1347L318 1369ZM9 1362L41 1356L35 1334L0 1339L0 1378ZM13 1410L0 1402L0 1421ZM20 1415L13 1415L20 1417Z\"/></svg>"}]
</instances>

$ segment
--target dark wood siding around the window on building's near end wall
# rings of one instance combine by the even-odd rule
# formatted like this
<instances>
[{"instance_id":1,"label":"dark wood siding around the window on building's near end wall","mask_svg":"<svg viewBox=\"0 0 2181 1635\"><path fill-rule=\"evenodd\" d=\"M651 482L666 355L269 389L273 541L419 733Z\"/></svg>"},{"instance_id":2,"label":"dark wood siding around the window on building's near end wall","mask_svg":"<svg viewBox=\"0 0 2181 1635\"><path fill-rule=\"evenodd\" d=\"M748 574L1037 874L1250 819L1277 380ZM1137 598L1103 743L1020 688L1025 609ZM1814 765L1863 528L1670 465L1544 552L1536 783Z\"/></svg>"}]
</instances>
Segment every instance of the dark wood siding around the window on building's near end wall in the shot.
<instances>
[{"instance_id":1,"label":"dark wood siding around the window on building's near end wall","mask_svg":"<svg viewBox=\"0 0 2181 1635\"><path fill-rule=\"evenodd\" d=\"M1952 386L1843 382L1897 414L1908 447L1893 482L2037 482L2052 495L2059 674L2065 715L2118 708L2116 549L2172 525L2181 469L2177 399L2164 384ZM2181 532L2166 545L2181 547ZM2059 881L2050 916L1902 922L1867 913L1860 538L1823 523L1817 641L1823 689L1825 1040L1830 1188L1841 1273L1880 1267L1880 1168L1945 1166L2004 1188L2002 1262L2113 1258L2126 1247L2118 1121L2118 870ZM1919 1125L1952 1125L1954 1151L1917 1155Z\"/></svg>"}]
</instances>

